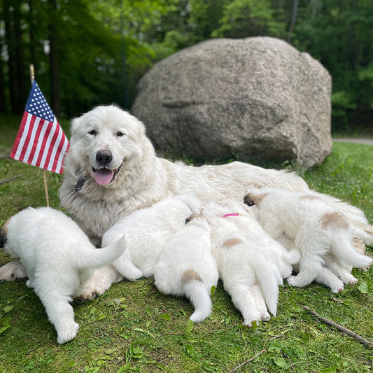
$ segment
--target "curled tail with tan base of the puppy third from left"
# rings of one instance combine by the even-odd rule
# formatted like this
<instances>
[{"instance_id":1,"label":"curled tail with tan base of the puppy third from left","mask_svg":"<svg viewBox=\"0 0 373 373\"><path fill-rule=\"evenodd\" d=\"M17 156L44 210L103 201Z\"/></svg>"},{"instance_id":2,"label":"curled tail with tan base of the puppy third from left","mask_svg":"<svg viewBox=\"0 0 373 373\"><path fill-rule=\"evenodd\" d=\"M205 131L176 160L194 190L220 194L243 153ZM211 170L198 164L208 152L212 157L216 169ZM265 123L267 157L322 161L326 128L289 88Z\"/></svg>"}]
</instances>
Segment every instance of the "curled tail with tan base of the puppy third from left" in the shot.
<instances>
[{"instance_id":1,"label":"curled tail with tan base of the puppy third from left","mask_svg":"<svg viewBox=\"0 0 373 373\"><path fill-rule=\"evenodd\" d=\"M190 316L194 323L201 323L211 314L212 302L210 291L201 276L193 269L185 271L182 277L183 293L190 300L195 311Z\"/></svg>"}]
</instances>

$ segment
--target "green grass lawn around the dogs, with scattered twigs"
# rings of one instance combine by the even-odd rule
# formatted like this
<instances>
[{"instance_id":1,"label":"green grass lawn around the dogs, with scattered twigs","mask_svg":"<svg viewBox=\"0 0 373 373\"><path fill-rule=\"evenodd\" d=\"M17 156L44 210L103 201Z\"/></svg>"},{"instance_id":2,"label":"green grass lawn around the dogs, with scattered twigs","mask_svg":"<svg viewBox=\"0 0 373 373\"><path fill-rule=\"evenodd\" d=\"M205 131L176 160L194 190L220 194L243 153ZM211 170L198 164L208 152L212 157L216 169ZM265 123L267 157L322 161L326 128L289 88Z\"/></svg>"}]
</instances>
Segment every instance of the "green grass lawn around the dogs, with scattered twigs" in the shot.
<instances>
[{"instance_id":1,"label":"green grass lawn around the dogs, with scattered twigs","mask_svg":"<svg viewBox=\"0 0 373 373\"><path fill-rule=\"evenodd\" d=\"M18 120L18 118L17 118ZM6 157L18 123L0 118L0 224L27 206L45 206L43 171ZM297 171L312 188L351 202L373 221L373 146L335 143L318 168ZM50 206L59 208L62 177L50 172ZM373 254L373 248L367 248ZM0 252L0 265L10 258ZM101 297L73 302L80 325L58 345L43 305L24 281L0 283L0 371L13 372L372 372L373 351L318 323L307 305L366 339L373 339L373 268L353 270L356 286L342 293L312 283L280 288L276 317L254 328L219 283L213 313L201 324L183 298L160 294L152 279L115 283Z\"/></svg>"}]
</instances>

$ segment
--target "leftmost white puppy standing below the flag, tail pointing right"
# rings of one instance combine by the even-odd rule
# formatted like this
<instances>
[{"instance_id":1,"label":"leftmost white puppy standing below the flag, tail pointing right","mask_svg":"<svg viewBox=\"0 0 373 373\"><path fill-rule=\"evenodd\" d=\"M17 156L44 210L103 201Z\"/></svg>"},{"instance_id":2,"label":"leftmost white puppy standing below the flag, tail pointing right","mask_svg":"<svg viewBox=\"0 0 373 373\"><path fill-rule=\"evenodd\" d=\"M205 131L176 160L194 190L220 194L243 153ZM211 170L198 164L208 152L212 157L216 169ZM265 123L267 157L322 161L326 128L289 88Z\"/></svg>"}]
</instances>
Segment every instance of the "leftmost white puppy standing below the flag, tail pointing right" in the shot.
<instances>
[{"instance_id":1,"label":"leftmost white puppy standing below the flag, tail pointing right","mask_svg":"<svg viewBox=\"0 0 373 373\"><path fill-rule=\"evenodd\" d=\"M95 267L107 265L125 249L124 237L107 248L94 248L71 218L49 207L17 213L1 229L1 241L4 252L22 263L26 284L43 303L59 344L78 332L72 298L83 291Z\"/></svg>"}]
</instances>

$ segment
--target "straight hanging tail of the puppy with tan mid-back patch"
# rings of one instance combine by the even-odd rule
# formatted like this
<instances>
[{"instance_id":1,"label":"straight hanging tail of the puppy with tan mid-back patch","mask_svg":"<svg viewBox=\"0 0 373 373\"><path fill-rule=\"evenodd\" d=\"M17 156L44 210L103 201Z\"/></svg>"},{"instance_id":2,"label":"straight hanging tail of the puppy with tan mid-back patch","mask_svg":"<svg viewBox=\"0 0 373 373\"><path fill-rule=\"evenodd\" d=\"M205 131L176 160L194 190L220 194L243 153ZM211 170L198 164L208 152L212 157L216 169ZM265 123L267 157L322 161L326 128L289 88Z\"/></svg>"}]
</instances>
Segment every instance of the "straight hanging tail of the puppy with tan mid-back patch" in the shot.
<instances>
[{"instance_id":1,"label":"straight hanging tail of the puppy with tan mid-back patch","mask_svg":"<svg viewBox=\"0 0 373 373\"><path fill-rule=\"evenodd\" d=\"M267 304L268 311L272 315L276 315L277 301L279 299L279 279L282 282L282 277L276 266L268 268L268 265L269 263L262 258L262 255L257 255L252 268L262 289L262 295Z\"/></svg>"}]
</instances>

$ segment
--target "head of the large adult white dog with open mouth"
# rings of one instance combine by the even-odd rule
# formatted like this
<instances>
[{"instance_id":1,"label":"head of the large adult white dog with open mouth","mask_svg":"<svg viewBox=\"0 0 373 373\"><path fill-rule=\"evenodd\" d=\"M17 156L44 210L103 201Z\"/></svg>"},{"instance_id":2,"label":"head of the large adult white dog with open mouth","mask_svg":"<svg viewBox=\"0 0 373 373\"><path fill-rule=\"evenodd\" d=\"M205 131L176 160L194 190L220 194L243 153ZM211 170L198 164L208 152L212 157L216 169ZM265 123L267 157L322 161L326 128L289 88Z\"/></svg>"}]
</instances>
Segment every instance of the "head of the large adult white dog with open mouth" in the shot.
<instances>
[{"instance_id":1,"label":"head of the large adult white dog with open mouth","mask_svg":"<svg viewBox=\"0 0 373 373\"><path fill-rule=\"evenodd\" d=\"M116 106L97 106L73 119L66 165L75 169L78 190L86 178L109 185L124 169L141 164L149 151L154 152L142 122Z\"/></svg>"}]
</instances>

